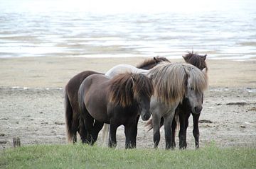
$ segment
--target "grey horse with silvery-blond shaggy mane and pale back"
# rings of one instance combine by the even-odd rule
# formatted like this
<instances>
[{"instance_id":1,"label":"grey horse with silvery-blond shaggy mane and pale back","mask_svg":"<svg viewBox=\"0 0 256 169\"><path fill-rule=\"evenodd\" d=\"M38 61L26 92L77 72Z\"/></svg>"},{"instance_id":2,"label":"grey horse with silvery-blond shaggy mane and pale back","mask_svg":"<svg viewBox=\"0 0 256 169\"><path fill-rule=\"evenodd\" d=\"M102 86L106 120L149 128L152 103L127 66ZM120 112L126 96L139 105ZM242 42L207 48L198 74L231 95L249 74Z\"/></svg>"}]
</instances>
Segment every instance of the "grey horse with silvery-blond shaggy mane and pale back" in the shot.
<instances>
[{"instance_id":1,"label":"grey horse with silvery-blond shaggy mane and pale back","mask_svg":"<svg viewBox=\"0 0 256 169\"><path fill-rule=\"evenodd\" d=\"M117 65L107 71L105 75L115 75L114 72L134 71L139 69L132 66ZM131 70L132 69L132 70ZM146 74L146 71L142 71ZM201 112L203 91L207 88L208 78L200 69L191 64L171 64L163 62L147 71L147 75L153 78L156 95L151 98L151 112L153 115L154 147L160 140L160 121L164 117L166 131L166 149L171 148L171 122L174 119L174 110L183 98L188 98L191 111ZM164 78L161 78L163 76ZM189 82L189 83L188 83ZM191 88L192 87L192 88ZM159 98L165 98L159 101ZM161 99L160 99L161 100ZM168 105L168 106L166 106ZM166 120L168 122L166 122ZM170 121L171 120L171 121Z\"/></svg>"}]
</instances>

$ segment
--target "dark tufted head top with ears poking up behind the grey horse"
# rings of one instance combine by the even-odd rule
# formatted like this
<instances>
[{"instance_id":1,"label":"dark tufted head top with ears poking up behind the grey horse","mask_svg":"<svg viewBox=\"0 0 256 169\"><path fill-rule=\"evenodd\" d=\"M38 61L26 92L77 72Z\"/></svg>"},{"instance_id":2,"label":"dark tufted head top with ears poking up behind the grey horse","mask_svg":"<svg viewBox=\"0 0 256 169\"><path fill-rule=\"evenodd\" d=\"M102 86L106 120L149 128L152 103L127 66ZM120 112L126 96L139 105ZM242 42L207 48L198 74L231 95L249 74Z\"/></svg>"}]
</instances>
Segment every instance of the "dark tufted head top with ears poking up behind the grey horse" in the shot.
<instances>
[{"instance_id":1,"label":"dark tufted head top with ears poking up behind the grey horse","mask_svg":"<svg viewBox=\"0 0 256 169\"><path fill-rule=\"evenodd\" d=\"M201 69L201 70L206 68L206 72L207 72L208 67L206 64L206 56L207 56L207 54L199 55L196 52L194 53L192 51L192 52L188 52L187 54L185 54L182 57L186 63L192 64L193 66L196 66L198 69Z\"/></svg>"}]
</instances>

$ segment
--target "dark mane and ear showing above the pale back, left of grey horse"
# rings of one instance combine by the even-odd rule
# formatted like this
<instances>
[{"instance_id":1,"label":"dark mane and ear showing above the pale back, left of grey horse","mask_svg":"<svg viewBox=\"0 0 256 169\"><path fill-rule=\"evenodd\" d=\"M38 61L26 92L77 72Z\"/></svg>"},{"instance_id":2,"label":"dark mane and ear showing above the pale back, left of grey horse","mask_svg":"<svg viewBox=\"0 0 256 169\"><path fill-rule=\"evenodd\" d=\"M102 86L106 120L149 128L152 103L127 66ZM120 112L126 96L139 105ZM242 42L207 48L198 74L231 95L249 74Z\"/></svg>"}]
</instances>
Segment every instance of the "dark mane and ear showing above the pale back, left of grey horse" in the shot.
<instances>
[{"instance_id":1,"label":"dark mane and ear showing above the pale back, left of grey horse","mask_svg":"<svg viewBox=\"0 0 256 169\"><path fill-rule=\"evenodd\" d=\"M170 62L166 57L153 57L153 59L145 59L144 62L138 64L136 67L139 69L151 69L159 62Z\"/></svg>"}]
</instances>

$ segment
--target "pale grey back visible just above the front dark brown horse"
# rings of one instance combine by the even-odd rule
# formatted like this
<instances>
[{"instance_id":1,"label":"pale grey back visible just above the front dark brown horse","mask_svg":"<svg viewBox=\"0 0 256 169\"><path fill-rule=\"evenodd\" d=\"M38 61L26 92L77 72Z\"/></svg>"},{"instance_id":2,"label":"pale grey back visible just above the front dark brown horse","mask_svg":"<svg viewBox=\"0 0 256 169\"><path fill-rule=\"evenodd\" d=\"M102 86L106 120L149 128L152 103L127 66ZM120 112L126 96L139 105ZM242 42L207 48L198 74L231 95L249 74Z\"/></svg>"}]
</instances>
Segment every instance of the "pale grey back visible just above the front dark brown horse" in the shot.
<instances>
[{"instance_id":1,"label":"pale grey back visible just above the front dark brown horse","mask_svg":"<svg viewBox=\"0 0 256 169\"><path fill-rule=\"evenodd\" d=\"M133 74L147 74L149 71L144 69L138 69L135 66L129 65L129 64L119 64L117 66L112 67L109 71L106 72L106 76L113 77L117 74L122 74L125 72L132 72Z\"/></svg>"}]
</instances>

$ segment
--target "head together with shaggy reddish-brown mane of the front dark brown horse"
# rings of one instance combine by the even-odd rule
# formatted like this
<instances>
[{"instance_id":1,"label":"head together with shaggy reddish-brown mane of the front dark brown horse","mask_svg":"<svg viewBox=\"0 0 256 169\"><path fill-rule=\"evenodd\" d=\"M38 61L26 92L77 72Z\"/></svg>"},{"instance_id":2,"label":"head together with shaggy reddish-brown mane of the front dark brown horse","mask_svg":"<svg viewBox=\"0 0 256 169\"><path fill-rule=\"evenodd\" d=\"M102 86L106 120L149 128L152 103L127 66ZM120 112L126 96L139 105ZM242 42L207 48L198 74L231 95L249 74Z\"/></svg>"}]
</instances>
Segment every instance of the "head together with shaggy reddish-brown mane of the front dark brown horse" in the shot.
<instances>
[{"instance_id":1,"label":"head together with shaggy reddish-brown mane of the front dark brown horse","mask_svg":"<svg viewBox=\"0 0 256 169\"><path fill-rule=\"evenodd\" d=\"M122 107L137 107L142 120L149 120L150 98L153 93L151 79L143 74L124 73L111 79L110 102Z\"/></svg>"}]
</instances>

